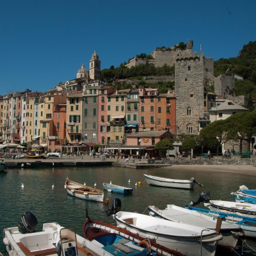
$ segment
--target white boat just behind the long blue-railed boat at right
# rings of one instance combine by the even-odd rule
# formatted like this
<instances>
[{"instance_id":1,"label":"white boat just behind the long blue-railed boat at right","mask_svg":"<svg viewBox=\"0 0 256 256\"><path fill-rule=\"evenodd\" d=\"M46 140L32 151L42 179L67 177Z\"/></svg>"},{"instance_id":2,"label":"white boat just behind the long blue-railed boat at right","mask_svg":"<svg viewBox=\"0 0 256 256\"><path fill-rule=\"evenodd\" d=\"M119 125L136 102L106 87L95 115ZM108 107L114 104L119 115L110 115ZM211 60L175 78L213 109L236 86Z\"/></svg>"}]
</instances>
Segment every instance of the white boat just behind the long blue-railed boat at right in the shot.
<instances>
[{"instance_id":1,"label":"white boat just behind the long blue-railed boat at right","mask_svg":"<svg viewBox=\"0 0 256 256\"><path fill-rule=\"evenodd\" d=\"M209 202L205 202L204 206L214 211L230 212L250 217L256 216L256 205L247 202L210 200Z\"/></svg>"}]
</instances>

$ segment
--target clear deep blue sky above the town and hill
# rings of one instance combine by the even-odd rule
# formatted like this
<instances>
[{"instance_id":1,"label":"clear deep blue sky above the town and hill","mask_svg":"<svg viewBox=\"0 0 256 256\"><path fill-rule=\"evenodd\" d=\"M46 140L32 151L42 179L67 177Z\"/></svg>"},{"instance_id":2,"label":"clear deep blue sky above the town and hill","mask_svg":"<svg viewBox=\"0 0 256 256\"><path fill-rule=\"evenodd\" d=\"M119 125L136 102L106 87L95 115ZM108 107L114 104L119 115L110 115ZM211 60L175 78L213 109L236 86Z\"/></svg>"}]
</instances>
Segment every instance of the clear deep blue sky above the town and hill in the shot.
<instances>
[{"instance_id":1,"label":"clear deep blue sky above the town and hill","mask_svg":"<svg viewBox=\"0 0 256 256\"><path fill-rule=\"evenodd\" d=\"M156 47L200 44L206 57L237 57L256 40L254 0L2 0L0 95L46 92L76 77L97 50L102 70Z\"/></svg>"}]
</instances>

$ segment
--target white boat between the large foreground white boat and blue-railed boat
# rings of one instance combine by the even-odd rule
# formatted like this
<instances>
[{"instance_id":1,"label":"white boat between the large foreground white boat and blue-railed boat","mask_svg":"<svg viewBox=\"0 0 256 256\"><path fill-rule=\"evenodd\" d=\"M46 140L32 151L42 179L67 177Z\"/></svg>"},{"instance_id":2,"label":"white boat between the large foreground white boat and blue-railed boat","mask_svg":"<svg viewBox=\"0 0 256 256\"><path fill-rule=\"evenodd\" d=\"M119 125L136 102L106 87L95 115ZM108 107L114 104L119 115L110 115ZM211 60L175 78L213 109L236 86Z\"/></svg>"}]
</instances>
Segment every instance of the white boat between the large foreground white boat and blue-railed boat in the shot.
<instances>
[{"instance_id":1,"label":"white boat between the large foreground white boat and blue-railed boat","mask_svg":"<svg viewBox=\"0 0 256 256\"><path fill-rule=\"evenodd\" d=\"M242 228L239 225L222 222L221 227L218 228L216 216L210 217L176 205L167 205L167 208L164 210L159 210L155 206L148 206L148 211L154 217L216 230L223 236L223 239L218 241L218 246L234 249L237 246L239 237L243 236Z\"/></svg>"}]
</instances>

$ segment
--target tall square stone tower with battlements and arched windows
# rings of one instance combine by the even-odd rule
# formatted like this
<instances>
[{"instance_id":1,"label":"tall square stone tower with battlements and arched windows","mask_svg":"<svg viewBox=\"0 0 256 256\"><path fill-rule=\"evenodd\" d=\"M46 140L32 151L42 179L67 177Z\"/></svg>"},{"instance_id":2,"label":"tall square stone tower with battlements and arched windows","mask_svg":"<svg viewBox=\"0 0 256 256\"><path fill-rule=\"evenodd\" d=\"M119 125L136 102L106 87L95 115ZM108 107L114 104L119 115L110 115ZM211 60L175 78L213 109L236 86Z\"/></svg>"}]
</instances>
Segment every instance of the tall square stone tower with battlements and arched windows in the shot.
<instances>
[{"instance_id":1,"label":"tall square stone tower with battlements and arched windows","mask_svg":"<svg viewBox=\"0 0 256 256\"><path fill-rule=\"evenodd\" d=\"M204 116L204 54L196 52L177 56L175 63L175 96L177 134L198 134L199 120Z\"/></svg>"}]
</instances>

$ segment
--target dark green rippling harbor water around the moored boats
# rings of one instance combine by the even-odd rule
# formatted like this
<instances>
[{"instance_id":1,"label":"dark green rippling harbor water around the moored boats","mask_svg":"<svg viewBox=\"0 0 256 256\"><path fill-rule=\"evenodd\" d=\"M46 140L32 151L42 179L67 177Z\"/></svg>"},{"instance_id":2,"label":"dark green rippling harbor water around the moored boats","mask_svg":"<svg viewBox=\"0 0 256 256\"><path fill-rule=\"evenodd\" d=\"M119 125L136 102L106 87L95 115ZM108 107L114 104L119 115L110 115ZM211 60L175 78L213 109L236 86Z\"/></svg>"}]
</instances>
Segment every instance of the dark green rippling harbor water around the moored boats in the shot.
<instances>
[{"instance_id":1,"label":"dark green rippling harbor water around the moored boats","mask_svg":"<svg viewBox=\"0 0 256 256\"><path fill-rule=\"evenodd\" d=\"M221 166L219 167L221 168ZM161 188L147 184L143 174L158 175L174 179L190 179L194 177L204 184L195 184L193 190ZM66 193L64 183L66 177L79 183L86 183L103 190L102 183L118 184L134 188L132 195L113 194L104 191L104 198L109 198L109 205L98 202L74 198ZM130 183L129 183L130 180ZM137 183L137 185L135 185ZM140 183L140 184L139 184ZM24 188L22 188L24 184ZM39 222L38 231L42 223L57 222L65 227L74 227L82 236L82 225L86 219L86 209L93 220L108 223L115 222L106 216L115 198L121 199L122 210L148 214L147 206L154 205L164 209L167 204L184 207L192 200L196 201L202 191L210 191L212 200L233 201L232 191L237 191L240 185L255 188L255 176L236 173L217 173L194 169L173 170L172 167L132 169L125 167L66 167L43 169L8 169L7 174L0 174L0 230L18 225L22 214L31 211ZM54 189L52 188L54 185ZM204 208L203 204L198 207ZM1 237L2 238L2 237ZM255 246L255 242L252 246ZM4 253L4 246L0 242L0 252ZM221 254L219 254L221 255ZM253 254L252 254L253 255Z\"/></svg>"}]
</instances>

